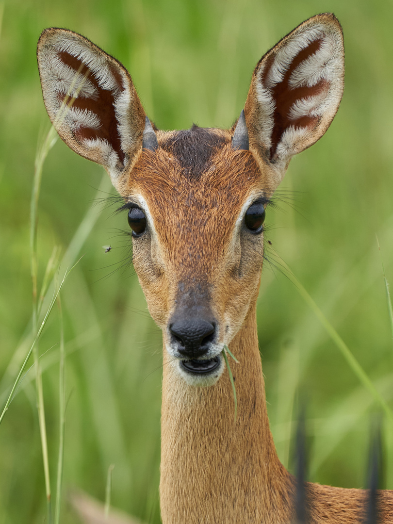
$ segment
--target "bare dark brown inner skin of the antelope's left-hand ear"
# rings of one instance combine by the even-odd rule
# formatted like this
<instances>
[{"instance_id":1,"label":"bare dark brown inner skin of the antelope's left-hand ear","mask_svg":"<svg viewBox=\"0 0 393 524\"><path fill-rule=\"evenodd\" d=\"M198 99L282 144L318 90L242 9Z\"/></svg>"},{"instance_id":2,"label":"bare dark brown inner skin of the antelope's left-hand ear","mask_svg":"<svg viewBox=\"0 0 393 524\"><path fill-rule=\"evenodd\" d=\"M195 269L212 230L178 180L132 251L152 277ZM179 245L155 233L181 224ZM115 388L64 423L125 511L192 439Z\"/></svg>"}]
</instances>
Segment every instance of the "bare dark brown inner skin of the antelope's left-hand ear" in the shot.
<instances>
[{"instance_id":1,"label":"bare dark brown inner skin of the antelope's left-hand ear","mask_svg":"<svg viewBox=\"0 0 393 524\"><path fill-rule=\"evenodd\" d=\"M113 92L107 89L102 89L92 71L85 64L83 64L81 60L73 57L66 51L60 51L59 56L64 64L75 70L75 74L79 72L80 74L85 75L86 80L89 80L97 90L96 97L89 98L78 96L75 100L73 100L72 106L80 110L91 111L97 115L101 121L100 128L90 129L89 127L81 126L78 130L74 131L74 135L79 141L90 138L102 138L103 140L107 140L116 151L121 162L124 164L125 154L122 150L121 138L117 129L117 119L114 108L115 99ZM121 75L115 70L114 67L111 67L111 72L116 80L118 92L124 91ZM67 95L59 94L58 97L62 102L68 102ZM70 99L70 97L68 98Z\"/></svg>"}]
</instances>

